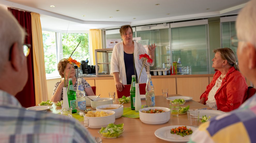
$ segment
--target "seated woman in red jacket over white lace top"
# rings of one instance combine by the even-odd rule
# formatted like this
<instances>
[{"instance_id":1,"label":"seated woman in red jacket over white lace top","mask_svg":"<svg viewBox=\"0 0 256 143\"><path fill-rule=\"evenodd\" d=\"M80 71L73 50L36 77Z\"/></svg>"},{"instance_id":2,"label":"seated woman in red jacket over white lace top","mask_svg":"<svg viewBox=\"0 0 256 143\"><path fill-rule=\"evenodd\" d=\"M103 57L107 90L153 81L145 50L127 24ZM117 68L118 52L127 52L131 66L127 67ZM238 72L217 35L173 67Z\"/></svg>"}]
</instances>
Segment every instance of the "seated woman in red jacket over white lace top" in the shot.
<instances>
[{"instance_id":1,"label":"seated woman in red jacket over white lace top","mask_svg":"<svg viewBox=\"0 0 256 143\"><path fill-rule=\"evenodd\" d=\"M236 56L230 48L215 49L213 52L212 67L218 71L200 96L200 103L216 110L232 111L242 104L248 86L238 71Z\"/></svg>"}]
</instances>

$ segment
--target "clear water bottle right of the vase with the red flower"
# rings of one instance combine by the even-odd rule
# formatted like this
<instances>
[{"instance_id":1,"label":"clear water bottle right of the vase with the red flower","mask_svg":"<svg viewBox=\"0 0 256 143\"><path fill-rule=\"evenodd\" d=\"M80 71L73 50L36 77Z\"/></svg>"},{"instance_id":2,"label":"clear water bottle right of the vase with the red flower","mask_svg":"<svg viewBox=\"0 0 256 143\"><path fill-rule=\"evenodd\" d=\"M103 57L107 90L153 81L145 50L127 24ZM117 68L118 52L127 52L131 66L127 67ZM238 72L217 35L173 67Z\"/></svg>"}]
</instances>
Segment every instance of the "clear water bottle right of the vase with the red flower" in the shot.
<instances>
[{"instance_id":1,"label":"clear water bottle right of the vase with the red flower","mask_svg":"<svg viewBox=\"0 0 256 143\"><path fill-rule=\"evenodd\" d=\"M154 86L153 86L150 74L148 74L148 80L146 85L146 105L155 106Z\"/></svg>"}]
</instances>

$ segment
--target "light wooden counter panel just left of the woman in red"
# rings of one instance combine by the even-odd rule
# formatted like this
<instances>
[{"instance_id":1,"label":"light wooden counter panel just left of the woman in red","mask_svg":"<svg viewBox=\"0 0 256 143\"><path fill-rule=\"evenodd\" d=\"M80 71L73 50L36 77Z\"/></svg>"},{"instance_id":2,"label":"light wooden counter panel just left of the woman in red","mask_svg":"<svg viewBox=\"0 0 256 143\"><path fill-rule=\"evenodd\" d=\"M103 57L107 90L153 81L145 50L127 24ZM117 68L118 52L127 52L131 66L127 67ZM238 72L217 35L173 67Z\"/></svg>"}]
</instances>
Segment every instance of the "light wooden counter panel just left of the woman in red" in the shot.
<instances>
[{"instance_id":1,"label":"light wooden counter panel just left of the woman in red","mask_svg":"<svg viewBox=\"0 0 256 143\"><path fill-rule=\"evenodd\" d=\"M199 101L208 84L208 77L177 77L177 94L191 96L194 101Z\"/></svg>"}]
</instances>

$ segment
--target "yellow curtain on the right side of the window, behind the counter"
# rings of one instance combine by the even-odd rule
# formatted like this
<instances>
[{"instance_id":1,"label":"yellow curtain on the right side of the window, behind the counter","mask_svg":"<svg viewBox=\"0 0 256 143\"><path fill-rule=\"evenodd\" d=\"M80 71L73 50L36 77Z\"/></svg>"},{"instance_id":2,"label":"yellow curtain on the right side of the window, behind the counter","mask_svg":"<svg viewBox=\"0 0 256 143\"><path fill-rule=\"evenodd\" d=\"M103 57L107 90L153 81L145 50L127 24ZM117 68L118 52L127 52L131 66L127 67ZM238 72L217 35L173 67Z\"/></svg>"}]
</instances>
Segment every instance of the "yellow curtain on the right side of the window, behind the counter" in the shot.
<instances>
[{"instance_id":1,"label":"yellow curtain on the right side of the window, behind the counter","mask_svg":"<svg viewBox=\"0 0 256 143\"><path fill-rule=\"evenodd\" d=\"M90 39L90 48L93 63L91 65L95 65L95 49L102 49L102 35L100 29L90 29L89 30L89 39ZM97 65L96 65L97 66Z\"/></svg>"}]
</instances>

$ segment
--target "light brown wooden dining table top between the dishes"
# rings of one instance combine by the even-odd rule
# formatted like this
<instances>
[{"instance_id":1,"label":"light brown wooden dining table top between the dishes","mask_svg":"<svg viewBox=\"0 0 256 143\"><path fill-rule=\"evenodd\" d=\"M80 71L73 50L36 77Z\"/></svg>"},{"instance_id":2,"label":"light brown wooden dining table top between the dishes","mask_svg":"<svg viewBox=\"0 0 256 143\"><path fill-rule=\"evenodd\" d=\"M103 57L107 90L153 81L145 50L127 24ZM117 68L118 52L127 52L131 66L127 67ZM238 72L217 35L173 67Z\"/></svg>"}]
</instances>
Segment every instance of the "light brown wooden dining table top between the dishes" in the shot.
<instances>
[{"instance_id":1,"label":"light brown wooden dining table top between the dishes","mask_svg":"<svg viewBox=\"0 0 256 143\"><path fill-rule=\"evenodd\" d=\"M171 97L171 96L182 96L182 95L179 95L179 94L168 95L168 97ZM120 103L118 102L118 100L116 100L113 104L120 104ZM145 104L146 104L146 101L141 100L141 105L145 105ZM124 103L123 105L124 107L130 107L131 103ZM202 109L202 108L211 109L210 107L204 104L198 103L194 100L186 101L186 103L184 105L181 105L181 107L186 107L187 105L190 105L190 110ZM155 96L155 106L170 108L170 100L163 98L162 95ZM53 105L53 107L54 108L51 109L51 112L53 113L60 112L60 108L56 108L55 105ZM86 107L86 108L92 109L91 107ZM92 109L92 111L94 110L95 109ZM103 143L106 143L106 142L110 142L110 143L113 143L113 142L122 142L122 143L168 142L168 141L157 138L154 134L155 131L165 126L173 126L173 125L177 125L177 127L180 125L190 126L190 122L187 119L187 114L178 115L177 117L171 116L170 120L167 123L160 124L160 125L149 125L149 124L142 123L140 121L140 118L120 117L115 120L115 124L121 124L121 123L124 123L124 132L122 136L114 139L102 138L98 133L100 129L91 129L91 128L87 128L87 129L89 130L92 136L100 137ZM83 124L82 121L81 121L81 124Z\"/></svg>"}]
</instances>

